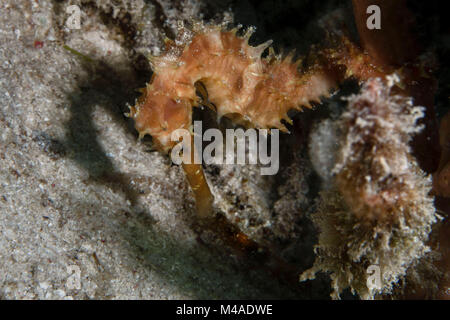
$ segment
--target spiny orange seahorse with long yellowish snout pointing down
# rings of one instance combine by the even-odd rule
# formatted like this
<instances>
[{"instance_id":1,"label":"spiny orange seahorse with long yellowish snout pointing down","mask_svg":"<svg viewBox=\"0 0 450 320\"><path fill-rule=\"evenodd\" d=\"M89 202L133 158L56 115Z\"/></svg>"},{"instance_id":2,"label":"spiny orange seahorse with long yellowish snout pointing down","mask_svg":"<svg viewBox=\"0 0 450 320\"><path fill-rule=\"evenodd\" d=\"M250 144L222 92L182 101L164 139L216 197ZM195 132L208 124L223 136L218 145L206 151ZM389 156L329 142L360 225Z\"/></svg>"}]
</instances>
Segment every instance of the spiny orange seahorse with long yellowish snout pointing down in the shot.
<instances>
[{"instance_id":1,"label":"spiny orange seahorse with long yellowish snout pointing down","mask_svg":"<svg viewBox=\"0 0 450 320\"><path fill-rule=\"evenodd\" d=\"M202 103L214 108L219 118L225 116L247 127L287 131L282 120L291 122L290 109L310 107L311 101L319 102L336 86L334 77L319 64L299 72L293 54L282 58L270 49L268 56L261 58L271 41L252 47L248 40L253 28L243 36L237 31L194 23L192 29L180 26L177 40L166 40L165 52L150 59L152 80L130 110L141 137L150 134L155 145L168 152L178 142L172 141L172 132L191 128L192 107L202 102L196 89L203 91L208 101ZM184 168L196 199L208 196L201 166ZM201 196L197 190L202 190ZM209 198L206 203L211 203L211 195ZM209 210L205 204L201 207L201 211Z\"/></svg>"}]
</instances>

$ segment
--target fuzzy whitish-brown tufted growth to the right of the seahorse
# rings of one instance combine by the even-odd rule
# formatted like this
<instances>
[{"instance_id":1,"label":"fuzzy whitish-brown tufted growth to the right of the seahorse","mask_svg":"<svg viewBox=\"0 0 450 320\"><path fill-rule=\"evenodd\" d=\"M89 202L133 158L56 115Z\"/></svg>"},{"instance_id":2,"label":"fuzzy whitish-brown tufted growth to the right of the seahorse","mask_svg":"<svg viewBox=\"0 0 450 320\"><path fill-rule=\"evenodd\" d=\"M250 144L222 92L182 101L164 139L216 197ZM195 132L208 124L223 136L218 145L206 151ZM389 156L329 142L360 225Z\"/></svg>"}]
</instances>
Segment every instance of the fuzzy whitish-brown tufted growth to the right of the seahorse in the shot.
<instances>
[{"instance_id":1,"label":"fuzzy whitish-brown tufted growth to the right of the seahorse","mask_svg":"<svg viewBox=\"0 0 450 320\"><path fill-rule=\"evenodd\" d=\"M388 293L428 251L425 242L436 221L431 179L409 146L421 130L417 120L423 110L392 95L392 85L370 79L349 98L339 120L344 133L335 189L322 194L313 215L320 232L317 260L301 279L331 272L334 298L348 287L366 299ZM366 284L371 265L381 269L378 288Z\"/></svg>"}]
</instances>

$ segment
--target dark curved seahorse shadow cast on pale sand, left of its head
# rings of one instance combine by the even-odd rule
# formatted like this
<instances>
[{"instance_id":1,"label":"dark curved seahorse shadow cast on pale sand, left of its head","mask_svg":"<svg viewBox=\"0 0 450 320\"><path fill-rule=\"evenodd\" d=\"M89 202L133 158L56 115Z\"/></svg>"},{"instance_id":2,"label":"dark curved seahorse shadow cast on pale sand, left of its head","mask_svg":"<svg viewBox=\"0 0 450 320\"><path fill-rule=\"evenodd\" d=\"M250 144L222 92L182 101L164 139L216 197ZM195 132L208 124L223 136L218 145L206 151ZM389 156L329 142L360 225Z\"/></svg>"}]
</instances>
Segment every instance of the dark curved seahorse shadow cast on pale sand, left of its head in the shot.
<instances>
[{"instance_id":1,"label":"dark curved seahorse shadow cast on pale sand, left of its head","mask_svg":"<svg viewBox=\"0 0 450 320\"><path fill-rule=\"evenodd\" d=\"M89 174L89 182L107 184L114 191L125 193L134 205L138 191L129 186L129 178L114 167L99 143L92 112L96 105L104 107L113 121L137 138L133 123L125 113L127 104L133 104L138 96L135 89L145 83L141 79L143 76L121 73L103 61L85 61L83 67L89 74L88 79L81 80L79 90L68 94L71 117L65 124L64 145L70 150L70 157Z\"/></svg>"}]
</instances>

